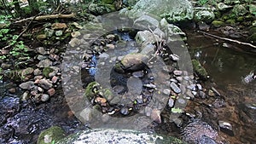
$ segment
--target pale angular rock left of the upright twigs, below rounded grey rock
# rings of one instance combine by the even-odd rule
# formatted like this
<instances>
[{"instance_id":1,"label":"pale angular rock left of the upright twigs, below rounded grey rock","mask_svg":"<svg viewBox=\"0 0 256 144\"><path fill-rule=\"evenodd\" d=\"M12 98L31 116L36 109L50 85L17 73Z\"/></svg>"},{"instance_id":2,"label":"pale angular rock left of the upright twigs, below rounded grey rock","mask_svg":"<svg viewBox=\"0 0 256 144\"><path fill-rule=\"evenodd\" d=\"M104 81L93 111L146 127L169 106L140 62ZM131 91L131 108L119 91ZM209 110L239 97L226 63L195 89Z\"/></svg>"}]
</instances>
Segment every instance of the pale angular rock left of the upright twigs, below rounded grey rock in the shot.
<instances>
[{"instance_id":1,"label":"pale angular rock left of the upright twigs, below rounded grey rock","mask_svg":"<svg viewBox=\"0 0 256 144\"><path fill-rule=\"evenodd\" d=\"M154 36L154 34L149 31L137 32L135 39L136 42L141 45L160 42L160 37Z\"/></svg>"}]
</instances>

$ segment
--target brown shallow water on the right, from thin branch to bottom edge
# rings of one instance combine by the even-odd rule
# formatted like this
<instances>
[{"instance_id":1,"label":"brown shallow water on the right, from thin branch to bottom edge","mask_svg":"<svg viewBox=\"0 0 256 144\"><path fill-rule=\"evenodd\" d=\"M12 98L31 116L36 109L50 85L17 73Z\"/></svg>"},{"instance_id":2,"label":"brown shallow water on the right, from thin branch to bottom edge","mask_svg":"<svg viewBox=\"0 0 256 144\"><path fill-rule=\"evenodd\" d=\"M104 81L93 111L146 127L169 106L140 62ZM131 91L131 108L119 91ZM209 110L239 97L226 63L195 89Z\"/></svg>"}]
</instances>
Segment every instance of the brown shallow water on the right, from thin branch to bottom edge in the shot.
<instances>
[{"instance_id":1,"label":"brown shallow water on the right, from thin branch to bottom edge","mask_svg":"<svg viewBox=\"0 0 256 144\"><path fill-rule=\"evenodd\" d=\"M256 80L254 79L249 84L242 81L250 72L256 72L255 53L241 50L245 49L244 46L236 43L218 41L197 32L187 32L187 34L191 58L201 61L210 76L207 83L213 85L221 94L221 97L216 100L201 102L209 106L217 106L217 103L218 106L223 105L213 107L212 112L209 113L204 113L207 108L203 106L192 106L192 104L189 108L204 109L201 112L207 122L214 121L211 118L229 122L233 126L235 135L230 136L219 132L219 135L225 141L230 143L255 143L256 124L247 117L247 114L244 114L248 110L243 108L248 103L256 103ZM225 44L228 45L228 48L223 46ZM253 112L255 113L255 110ZM214 117L213 114L217 116Z\"/></svg>"}]
</instances>

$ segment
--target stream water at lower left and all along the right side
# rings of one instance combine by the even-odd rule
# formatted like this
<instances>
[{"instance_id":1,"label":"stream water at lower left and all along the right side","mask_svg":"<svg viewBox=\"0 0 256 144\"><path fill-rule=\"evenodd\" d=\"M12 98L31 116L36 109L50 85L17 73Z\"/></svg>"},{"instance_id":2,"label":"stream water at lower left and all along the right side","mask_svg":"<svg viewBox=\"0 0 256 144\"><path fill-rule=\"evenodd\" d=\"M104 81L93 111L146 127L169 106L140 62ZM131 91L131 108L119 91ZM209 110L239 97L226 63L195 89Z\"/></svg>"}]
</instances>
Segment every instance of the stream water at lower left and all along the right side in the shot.
<instances>
[{"instance_id":1,"label":"stream water at lower left and all along the right side","mask_svg":"<svg viewBox=\"0 0 256 144\"><path fill-rule=\"evenodd\" d=\"M256 108L254 106L253 112L247 113L246 106L256 103L256 80L249 84L242 82L242 78L256 70L255 55L232 49L232 45L231 48L223 47L224 42L196 32L186 33L191 57L200 60L210 75L205 85L213 85L222 95L219 99L191 101L186 110L202 112L202 119L213 124L213 128L216 120L232 124L235 136L218 132L227 143L255 143L256 116L253 112ZM10 94L10 88L17 88L15 94ZM87 129L73 116L61 87L57 88L56 95L50 101L40 104L30 100L20 101L23 92L10 82L0 82L0 93L0 143L36 143L39 133L52 125L61 126L67 134ZM205 113L203 108L206 105L215 107L212 112ZM216 116L211 115L213 111ZM252 115L253 118L250 117ZM215 128L218 129L218 126L215 125ZM162 126L160 129L165 131L168 128Z\"/></svg>"}]
</instances>

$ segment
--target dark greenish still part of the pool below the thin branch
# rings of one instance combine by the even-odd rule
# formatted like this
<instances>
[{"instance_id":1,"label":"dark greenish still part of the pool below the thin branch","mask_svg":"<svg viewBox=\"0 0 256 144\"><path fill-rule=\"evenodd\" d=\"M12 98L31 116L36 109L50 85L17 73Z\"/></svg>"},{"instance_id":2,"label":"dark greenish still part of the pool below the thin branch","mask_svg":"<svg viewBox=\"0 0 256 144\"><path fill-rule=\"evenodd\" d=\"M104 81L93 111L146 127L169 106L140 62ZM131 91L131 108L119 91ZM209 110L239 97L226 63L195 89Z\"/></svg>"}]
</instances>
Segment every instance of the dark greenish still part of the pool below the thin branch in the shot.
<instances>
[{"instance_id":1,"label":"dark greenish still part of the pool below the thin branch","mask_svg":"<svg viewBox=\"0 0 256 144\"><path fill-rule=\"evenodd\" d=\"M256 70L256 55L236 51L236 46L225 48L224 42L203 36L189 37L188 43L191 57L201 61L220 87L241 84L242 78Z\"/></svg>"}]
</instances>

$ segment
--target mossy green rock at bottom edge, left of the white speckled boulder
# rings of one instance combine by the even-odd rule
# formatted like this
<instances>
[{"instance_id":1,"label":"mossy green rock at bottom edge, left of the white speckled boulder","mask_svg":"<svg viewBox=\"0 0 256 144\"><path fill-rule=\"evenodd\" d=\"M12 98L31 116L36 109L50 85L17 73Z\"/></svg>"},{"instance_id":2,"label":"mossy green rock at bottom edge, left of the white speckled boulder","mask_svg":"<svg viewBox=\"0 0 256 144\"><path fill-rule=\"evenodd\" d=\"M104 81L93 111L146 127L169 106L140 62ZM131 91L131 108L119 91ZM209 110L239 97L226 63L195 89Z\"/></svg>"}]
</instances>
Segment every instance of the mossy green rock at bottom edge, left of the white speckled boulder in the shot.
<instances>
[{"instance_id":1,"label":"mossy green rock at bottom edge, left of the white speckled boulder","mask_svg":"<svg viewBox=\"0 0 256 144\"><path fill-rule=\"evenodd\" d=\"M58 126L52 126L41 132L38 136L37 144L52 144L54 141L60 141L65 137L65 131Z\"/></svg>"}]
</instances>

